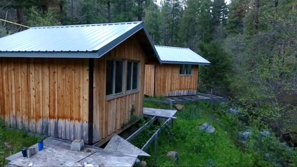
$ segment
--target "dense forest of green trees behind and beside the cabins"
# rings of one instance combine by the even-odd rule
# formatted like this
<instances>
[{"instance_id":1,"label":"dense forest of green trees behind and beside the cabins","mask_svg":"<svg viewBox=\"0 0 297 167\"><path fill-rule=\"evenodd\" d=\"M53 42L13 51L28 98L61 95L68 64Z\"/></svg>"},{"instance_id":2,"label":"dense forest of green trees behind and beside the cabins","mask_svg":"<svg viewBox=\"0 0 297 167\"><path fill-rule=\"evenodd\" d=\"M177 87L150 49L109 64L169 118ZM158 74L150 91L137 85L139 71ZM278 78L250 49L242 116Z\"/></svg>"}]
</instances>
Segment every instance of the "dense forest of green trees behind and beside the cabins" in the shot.
<instances>
[{"instance_id":1,"label":"dense forest of green trees behind and beside the cabins","mask_svg":"<svg viewBox=\"0 0 297 167\"><path fill-rule=\"evenodd\" d=\"M296 0L0 0L0 18L33 26L144 21L156 45L211 62L199 91L229 99L259 128L297 143ZM0 22L0 37L26 28Z\"/></svg>"}]
</instances>

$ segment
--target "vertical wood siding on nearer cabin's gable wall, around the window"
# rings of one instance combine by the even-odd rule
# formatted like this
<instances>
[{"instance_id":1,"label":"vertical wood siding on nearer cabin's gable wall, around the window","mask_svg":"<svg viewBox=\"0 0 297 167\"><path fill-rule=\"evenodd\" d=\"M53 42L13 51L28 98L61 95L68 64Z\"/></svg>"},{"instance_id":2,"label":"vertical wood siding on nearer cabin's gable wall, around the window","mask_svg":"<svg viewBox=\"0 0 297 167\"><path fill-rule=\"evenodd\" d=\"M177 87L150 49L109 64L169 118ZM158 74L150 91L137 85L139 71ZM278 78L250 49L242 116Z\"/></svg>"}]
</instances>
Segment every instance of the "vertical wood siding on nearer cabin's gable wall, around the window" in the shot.
<instances>
[{"instance_id":1,"label":"vertical wood siding on nearer cabin's gable wall, around the window","mask_svg":"<svg viewBox=\"0 0 297 167\"><path fill-rule=\"evenodd\" d=\"M116 58L120 60L135 60L140 62L140 91L119 98L105 98L105 60ZM134 38L129 38L115 47L104 57L94 61L94 113L93 113L93 142L97 142L116 130L120 129L131 116L134 105L135 115L143 113L145 53ZM124 75L126 77L126 75ZM126 84L125 84L126 86ZM126 89L125 87L123 88Z\"/></svg>"}]
</instances>

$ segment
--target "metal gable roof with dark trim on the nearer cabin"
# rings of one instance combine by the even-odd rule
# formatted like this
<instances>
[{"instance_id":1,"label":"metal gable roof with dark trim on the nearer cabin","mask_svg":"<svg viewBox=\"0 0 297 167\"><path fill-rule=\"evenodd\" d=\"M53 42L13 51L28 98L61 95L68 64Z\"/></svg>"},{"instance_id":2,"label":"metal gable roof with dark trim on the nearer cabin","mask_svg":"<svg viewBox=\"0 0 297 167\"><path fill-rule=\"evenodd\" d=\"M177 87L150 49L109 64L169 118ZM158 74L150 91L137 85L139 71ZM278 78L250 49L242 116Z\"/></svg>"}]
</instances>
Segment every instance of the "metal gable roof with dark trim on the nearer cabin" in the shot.
<instances>
[{"instance_id":1,"label":"metal gable roof with dark trim on the nearer cabin","mask_svg":"<svg viewBox=\"0 0 297 167\"><path fill-rule=\"evenodd\" d=\"M143 22L32 27L0 38L0 57L99 58L138 32L160 61Z\"/></svg>"}]
</instances>

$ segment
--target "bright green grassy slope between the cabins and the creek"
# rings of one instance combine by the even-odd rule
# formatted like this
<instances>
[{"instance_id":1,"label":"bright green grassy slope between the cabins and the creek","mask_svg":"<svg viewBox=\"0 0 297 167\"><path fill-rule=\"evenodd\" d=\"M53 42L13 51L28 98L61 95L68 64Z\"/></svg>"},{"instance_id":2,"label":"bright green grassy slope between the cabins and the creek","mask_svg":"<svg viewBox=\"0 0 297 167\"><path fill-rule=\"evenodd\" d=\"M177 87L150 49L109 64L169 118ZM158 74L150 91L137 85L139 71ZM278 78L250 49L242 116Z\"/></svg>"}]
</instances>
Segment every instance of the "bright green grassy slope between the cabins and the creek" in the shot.
<instances>
[{"instance_id":1,"label":"bright green grassy slope between the cabins and the creek","mask_svg":"<svg viewBox=\"0 0 297 167\"><path fill-rule=\"evenodd\" d=\"M146 102L144 106L160 108L158 104ZM156 166L253 166L251 154L241 151L230 134L225 132L228 127L211 119L207 103L186 104L184 110L177 113L177 117L173 129L165 128L158 138ZM205 122L215 127L214 134L198 130L198 126ZM168 151L178 152L178 163L165 157ZM143 160L153 166L154 143L146 152L151 157Z\"/></svg>"}]
</instances>

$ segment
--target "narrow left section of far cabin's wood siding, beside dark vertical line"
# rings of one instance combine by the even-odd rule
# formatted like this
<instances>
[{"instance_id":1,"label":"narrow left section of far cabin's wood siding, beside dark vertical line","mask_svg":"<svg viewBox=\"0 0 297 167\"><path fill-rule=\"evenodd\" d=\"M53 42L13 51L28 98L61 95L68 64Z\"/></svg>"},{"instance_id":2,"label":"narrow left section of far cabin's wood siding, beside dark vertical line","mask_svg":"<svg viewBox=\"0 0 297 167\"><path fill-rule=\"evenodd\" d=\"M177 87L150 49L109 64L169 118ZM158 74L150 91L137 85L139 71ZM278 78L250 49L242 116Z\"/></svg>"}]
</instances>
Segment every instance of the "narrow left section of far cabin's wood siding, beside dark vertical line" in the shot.
<instances>
[{"instance_id":1,"label":"narrow left section of far cabin's wood siding, beside dark vertical line","mask_svg":"<svg viewBox=\"0 0 297 167\"><path fill-rule=\"evenodd\" d=\"M144 94L154 96L155 65L146 64L144 76Z\"/></svg>"}]
</instances>

